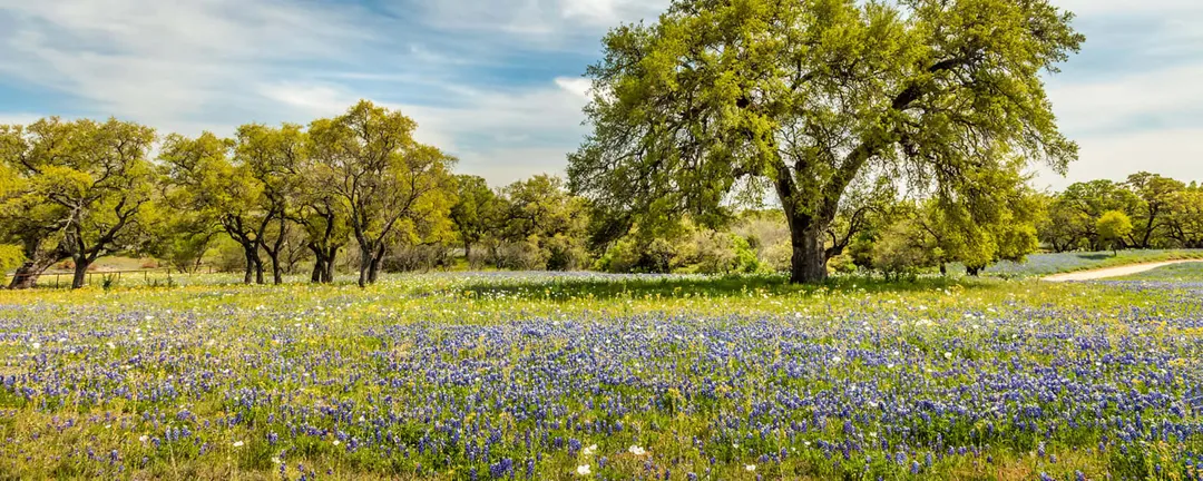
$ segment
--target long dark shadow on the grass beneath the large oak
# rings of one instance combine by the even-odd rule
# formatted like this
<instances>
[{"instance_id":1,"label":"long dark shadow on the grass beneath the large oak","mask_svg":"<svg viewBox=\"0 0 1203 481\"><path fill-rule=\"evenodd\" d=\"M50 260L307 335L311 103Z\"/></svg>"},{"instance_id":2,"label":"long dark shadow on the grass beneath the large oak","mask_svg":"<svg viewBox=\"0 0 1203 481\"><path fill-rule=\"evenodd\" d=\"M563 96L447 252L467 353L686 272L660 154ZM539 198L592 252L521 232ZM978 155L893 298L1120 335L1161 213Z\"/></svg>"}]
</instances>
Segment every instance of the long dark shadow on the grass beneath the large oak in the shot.
<instances>
[{"instance_id":1,"label":"long dark shadow on the grass beneath the large oak","mask_svg":"<svg viewBox=\"0 0 1203 481\"><path fill-rule=\"evenodd\" d=\"M792 284L786 275L729 277L648 277L628 279L555 278L528 281L474 281L460 286L478 295L504 295L511 298L616 298L616 297L740 297L749 293L770 296L825 292L921 292L960 286L984 289L998 281L984 279L920 278L912 281L887 281L870 277L837 277L823 284Z\"/></svg>"}]
</instances>

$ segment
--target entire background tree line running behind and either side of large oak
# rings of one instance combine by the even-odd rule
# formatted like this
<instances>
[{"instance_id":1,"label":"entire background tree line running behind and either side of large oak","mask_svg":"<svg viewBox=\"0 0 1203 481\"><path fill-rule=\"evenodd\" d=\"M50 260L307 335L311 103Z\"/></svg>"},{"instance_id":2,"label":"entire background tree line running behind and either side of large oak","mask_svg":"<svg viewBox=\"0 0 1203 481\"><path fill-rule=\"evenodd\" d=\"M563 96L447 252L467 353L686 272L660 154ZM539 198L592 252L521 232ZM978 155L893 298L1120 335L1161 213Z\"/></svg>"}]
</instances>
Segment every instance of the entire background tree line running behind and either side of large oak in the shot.
<instances>
[{"instance_id":1,"label":"entire background tree line running behind and either side of large oak","mask_svg":"<svg viewBox=\"0 0 1203 481\"><path fill-rule=\"evenodd\" d=\"M777 208L729 200L712 218L634 216L552 176L494 188L413 138L398 112L360 102L308 126L249 124L231 138L167 135L109 119L0 126L0 268L10 287L53 266L81 286L97 259L313 283L426 269L615 273L789 271L794 232ZM849 185L822 248L831 272L887 277L1051 251L1203 248L1203 188L1140 172L1038 192L1018 170L950 202L888 178Z\"/></svg>"}]
</instances>

